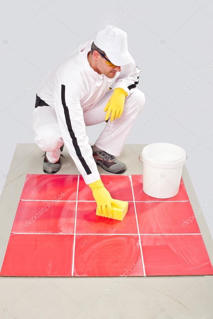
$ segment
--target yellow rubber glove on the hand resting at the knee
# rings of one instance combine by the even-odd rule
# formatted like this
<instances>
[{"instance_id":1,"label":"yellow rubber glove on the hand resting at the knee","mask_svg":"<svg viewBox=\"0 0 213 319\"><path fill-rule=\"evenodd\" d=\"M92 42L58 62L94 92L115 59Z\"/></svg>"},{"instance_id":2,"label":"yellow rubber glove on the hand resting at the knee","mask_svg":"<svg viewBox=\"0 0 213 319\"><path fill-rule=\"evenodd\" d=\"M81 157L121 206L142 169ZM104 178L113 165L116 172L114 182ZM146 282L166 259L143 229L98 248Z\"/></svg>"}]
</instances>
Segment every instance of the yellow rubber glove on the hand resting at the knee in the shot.
<instances>
[{"instance_id":1,"label":"yellow rubber glove on the hand resting at the knee","mask_svg":"<svg viewBox=\"0 0 213 319\"><path fill-rule=\"evenodd\" d=\"M128 95L124 89L121 87L117 87L114 92L112 93L110 100L108 101L106 107L104 108L104 112L107 111L107 114L105 116L105 121L108 120L110 117L110 121L117 119L117 117L120 117L124 110L124 102L125 97Z\"/></svg>"}]
</instances>

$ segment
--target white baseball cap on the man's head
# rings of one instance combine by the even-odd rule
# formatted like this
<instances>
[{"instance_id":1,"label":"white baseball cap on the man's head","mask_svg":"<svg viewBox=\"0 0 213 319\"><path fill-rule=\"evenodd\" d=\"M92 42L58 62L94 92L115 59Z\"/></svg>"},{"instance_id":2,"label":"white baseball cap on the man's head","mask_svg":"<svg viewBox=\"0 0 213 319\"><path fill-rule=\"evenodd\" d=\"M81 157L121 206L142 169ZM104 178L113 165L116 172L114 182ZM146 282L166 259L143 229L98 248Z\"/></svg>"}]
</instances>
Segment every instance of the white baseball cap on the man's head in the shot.
<instances>
[{"instance_id":1,"label":"white baseball cap on the man's head","mask_svg":"<svg viewBox=\"0 0 213 319\"><path fill-rule=\"evenodd\" d=\"M121 66L134 63L128 52L127 34L116 26L103 26L95 33L94 44L106 53L111 63Z\"/></svg>"}]
</instances>

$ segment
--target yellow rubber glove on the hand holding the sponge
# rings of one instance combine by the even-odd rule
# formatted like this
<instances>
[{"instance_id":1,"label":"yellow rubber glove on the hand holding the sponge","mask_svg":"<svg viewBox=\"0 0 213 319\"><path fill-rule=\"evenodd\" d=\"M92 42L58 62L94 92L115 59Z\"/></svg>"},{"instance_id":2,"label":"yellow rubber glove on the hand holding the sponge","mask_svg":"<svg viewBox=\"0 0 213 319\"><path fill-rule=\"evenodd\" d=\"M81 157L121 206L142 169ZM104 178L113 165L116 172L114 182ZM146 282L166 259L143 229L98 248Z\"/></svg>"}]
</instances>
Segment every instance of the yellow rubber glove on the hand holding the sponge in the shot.
<instances>
[{"instance_id":1,"label":"yellow rubber glove on the hand holding the sponge","mask_svg":"<svg viewBox=\"0 0 213 319\"><path fill-rule=\"evenodd\" d=\"M112 218L113 217L112 204L122 209L122 207L118 204L118 202L111 197L109 191L104 187L101 179L93 183L90 183L88 185L90 189L92 190L93 197L95 198L100 215L108 217L108 214L109 214L109 216Z\"/></svg>"}]
</instances>

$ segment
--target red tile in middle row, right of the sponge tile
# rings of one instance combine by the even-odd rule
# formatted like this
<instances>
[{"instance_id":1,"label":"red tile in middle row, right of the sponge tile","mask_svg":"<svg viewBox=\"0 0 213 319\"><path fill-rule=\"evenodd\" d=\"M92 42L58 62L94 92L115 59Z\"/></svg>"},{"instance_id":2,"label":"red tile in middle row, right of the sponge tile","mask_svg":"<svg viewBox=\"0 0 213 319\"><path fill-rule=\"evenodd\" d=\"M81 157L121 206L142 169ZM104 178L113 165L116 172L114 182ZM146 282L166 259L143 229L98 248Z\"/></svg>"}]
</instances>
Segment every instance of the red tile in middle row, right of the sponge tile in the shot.
<instances>
[{"instance_id":1,"label":"red tile in middle row, right of the sponge tile","mask_svg":"<svg viewBox=\"0 0 213 319\"><path fill-rule=\"evenodd\" d=\"M136 202L140 234L200 233L190 202Z\"/></svg>"}]
</instances>

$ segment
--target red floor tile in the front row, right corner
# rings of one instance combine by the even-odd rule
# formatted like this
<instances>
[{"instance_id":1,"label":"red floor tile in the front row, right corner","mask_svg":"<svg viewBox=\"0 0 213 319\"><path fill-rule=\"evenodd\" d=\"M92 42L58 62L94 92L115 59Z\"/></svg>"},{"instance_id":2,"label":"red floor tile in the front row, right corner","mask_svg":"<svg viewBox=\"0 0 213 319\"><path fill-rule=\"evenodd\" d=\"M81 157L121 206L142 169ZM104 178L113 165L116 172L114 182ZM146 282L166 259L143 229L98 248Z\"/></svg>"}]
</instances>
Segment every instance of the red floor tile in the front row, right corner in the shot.
<instances>
[{"instance_id":1,"label":"red floor tile in the front row, right corner","mask_svg":"<svg viewBox=\"0 0 213 319\"><path fill-rule=\"evenodd\" d=\"M141 235L147 276L212 275L201 235Z\"/></svg>"}]
</instances>

